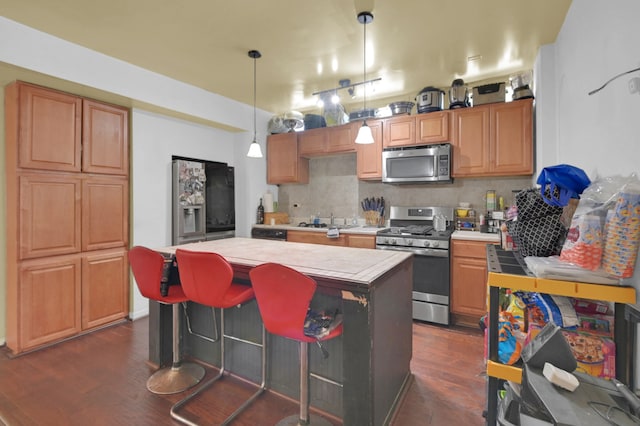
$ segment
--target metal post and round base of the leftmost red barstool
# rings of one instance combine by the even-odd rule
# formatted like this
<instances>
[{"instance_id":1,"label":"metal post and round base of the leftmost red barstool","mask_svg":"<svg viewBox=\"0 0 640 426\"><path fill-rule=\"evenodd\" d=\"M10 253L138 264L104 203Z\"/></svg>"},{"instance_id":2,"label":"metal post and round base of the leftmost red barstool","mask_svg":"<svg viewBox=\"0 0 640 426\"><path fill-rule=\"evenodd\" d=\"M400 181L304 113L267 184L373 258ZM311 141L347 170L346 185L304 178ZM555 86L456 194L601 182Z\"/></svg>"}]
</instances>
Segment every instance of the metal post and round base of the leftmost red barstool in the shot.
<instances>
[{"instance_id":1,"label":"metal post and round base of the leftmost red barstool","mask_svg":"<svg viewBox=\"0 0 640 426\"><path fill-rule=\"evenodd\" d=\"M183 362L180 355L180 304L172 305L172 365L156 371L147 380L149 392L168 395L185 391L204 377L204 368L192 362Z\"/></svg>"}]
</instances>

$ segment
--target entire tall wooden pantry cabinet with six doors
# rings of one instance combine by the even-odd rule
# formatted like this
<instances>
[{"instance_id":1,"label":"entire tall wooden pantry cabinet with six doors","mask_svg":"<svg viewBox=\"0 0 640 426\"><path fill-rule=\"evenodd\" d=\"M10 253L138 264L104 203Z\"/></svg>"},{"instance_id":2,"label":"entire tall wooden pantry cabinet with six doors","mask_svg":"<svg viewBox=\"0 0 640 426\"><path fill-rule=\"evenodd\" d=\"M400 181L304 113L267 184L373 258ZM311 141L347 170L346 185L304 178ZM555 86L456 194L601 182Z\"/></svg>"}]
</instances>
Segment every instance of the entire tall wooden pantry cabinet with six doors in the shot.
<instances>
[{"instance_id":1,"label":"entire tall wooden pantry cabinet with six doors","mask_svg":"<svg viewBox=\"0 0 640 426\"><path fill-rule=\"evenodd\" d=\"M5 87L7 346L14 354L126 317L129 112Z\"/></svg>"}]
</instances>

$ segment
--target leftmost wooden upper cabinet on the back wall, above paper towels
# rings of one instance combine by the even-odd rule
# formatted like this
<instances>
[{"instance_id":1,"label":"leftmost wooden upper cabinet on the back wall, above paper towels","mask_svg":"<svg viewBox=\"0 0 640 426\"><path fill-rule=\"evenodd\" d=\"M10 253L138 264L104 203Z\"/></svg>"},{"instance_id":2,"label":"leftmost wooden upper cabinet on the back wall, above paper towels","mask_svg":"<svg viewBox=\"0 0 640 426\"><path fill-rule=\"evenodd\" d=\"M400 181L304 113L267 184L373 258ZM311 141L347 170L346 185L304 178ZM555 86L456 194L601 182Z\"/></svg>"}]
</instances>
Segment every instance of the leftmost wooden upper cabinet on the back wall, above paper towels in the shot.
<instances>
[{"instance_id":1,"label":"leftmost wooden upper cabinet on the back wall, above paper towels","mask_svg":"<svg viewBox=\"0 0 640 426\"><path fill-rule=\"evenodd\" d=\"M270 135L267 138L267 183L308 183L309 160L298 154L295 132Z\"/></svg>"}]
</instances>

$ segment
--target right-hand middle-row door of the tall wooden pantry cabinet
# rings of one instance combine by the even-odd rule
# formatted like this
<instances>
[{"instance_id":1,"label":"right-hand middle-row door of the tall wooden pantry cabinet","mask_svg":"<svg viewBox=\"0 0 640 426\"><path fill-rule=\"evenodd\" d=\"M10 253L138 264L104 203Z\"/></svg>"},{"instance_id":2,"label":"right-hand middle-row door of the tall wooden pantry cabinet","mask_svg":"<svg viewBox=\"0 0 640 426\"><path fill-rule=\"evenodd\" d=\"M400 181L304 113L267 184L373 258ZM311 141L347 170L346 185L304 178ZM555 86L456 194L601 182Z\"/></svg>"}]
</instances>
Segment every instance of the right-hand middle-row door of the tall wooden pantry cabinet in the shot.
<instances>
[{"instance_id":1,"label":"right-hand middle-row door of the tall wooden pantry cabinet","mask_svg":"<svg viewBox=\"0 0 640 426\"><path fill-rule=\"evenodd\" d=\"M126 178L89 177L82 184L82 250L125 247L129 242Z\"/></svg>"}]
</instances>

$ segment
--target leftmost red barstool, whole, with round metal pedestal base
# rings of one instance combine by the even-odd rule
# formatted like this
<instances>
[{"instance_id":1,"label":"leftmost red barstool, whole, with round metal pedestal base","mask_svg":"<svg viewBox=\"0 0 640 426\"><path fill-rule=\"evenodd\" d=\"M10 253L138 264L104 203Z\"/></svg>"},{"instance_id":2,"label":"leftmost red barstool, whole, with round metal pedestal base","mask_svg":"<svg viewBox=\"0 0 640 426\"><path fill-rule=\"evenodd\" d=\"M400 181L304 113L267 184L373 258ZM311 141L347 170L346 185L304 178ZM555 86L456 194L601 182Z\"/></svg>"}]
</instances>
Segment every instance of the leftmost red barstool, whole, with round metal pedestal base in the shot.
<instances>
[{"instance_id":1,"label":"leftmost red barstool, whole, with round metal pedestal base","mask_svg":"<svg viewBox=\"0 0 640 426\"><path fill-rule=\"evenodd\" d=\"M150 300L171 305L173 309L173 363L161 368L147 380L147 389L156 394L182 392L195 386L204 377L204 368L192 362L183 362L180 356L180 305L188 299L179 285L169 286L167 296L160 293L164 257L157 251L142 246L129 250L129 263L140 293Z\"/></svg>"}]
</instances>

